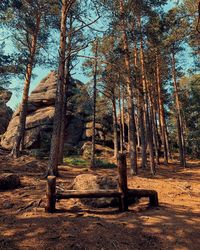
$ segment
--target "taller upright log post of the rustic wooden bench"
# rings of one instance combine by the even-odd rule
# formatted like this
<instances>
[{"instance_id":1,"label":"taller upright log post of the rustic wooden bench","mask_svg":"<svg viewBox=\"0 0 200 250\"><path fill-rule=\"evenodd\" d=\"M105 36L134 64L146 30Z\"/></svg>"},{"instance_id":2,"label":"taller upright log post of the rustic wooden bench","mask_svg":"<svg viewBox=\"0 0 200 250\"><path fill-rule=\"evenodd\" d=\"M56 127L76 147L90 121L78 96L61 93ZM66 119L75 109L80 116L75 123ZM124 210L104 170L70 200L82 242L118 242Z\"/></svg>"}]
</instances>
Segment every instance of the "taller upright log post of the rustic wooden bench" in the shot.
<instances>
[{"instance_id":1,"label":"taller upright log post of the rustic wooden bench","mask_svg":"<svg viewBox=\"0 0 200 250\"><path fill-rule=\"evenodd\" d=\"M127 166L126 166L126 155L118 155L118 188L119 192L122 193L119 202L119 210L125 212L128 210L128 187L127 187Z\"/></svg>"}]
</instances>

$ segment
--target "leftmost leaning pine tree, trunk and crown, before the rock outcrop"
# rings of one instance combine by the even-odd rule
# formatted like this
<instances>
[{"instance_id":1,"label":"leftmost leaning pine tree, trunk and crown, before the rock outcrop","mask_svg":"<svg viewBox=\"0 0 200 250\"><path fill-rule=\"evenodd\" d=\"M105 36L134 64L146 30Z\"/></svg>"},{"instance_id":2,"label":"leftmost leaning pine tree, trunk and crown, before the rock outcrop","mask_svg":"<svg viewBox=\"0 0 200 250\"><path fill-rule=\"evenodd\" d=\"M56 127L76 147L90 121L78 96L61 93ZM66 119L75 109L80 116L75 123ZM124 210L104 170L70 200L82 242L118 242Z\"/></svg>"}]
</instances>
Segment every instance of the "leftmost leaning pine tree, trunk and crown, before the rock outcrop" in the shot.
<instances>
[{"instance_id":1,"label":"leftmost leaning pine tree, trunk and crown, before the rock outcrop","mask_svg":"<svg viewBox=\"0 0 200 250\"><path fill-rule=\"evenodd\" d=\"M19 125L11 153L13 157L18 157L20 150L24 148L28 93L36 54L39 52L41 44L44 44L47 39L45 13L48 4L49 2L44 3L41 0L34 1L34 3L19 0L12 1L11 5L13 20L10 25L14 26L13 36L16 46L25 58L24 89L20 105Z\"/></svg>"}]
</instances>

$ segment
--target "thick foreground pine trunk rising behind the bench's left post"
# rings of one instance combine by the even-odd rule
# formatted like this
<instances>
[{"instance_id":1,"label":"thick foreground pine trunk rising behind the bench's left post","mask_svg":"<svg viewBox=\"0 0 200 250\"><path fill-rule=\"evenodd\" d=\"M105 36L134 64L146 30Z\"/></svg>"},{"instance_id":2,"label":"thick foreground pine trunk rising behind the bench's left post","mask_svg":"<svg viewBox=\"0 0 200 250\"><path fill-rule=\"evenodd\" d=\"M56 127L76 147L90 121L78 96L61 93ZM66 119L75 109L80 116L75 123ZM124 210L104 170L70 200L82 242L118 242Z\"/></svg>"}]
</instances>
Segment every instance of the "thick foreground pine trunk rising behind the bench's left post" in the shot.
<instances>
[{"instance_id":1,"label":"thick foreground pine trunk rising behind the bench's left post","mask_svg":"<svg viewBox=\"0 0 200 250\"><path fill-rule=\"evenodd\" d=\"M60 24L60 49L59 49L59 67L56 89L56 102L53 123L53 133L51 138L51 149L49 155L47 175L58 175L58 153L60 143L60 129L63 106L63 87L65 81L65 53L66 53L66 19L69 10L67 0L62 0L61 24Z\"/></svg>"}]
</instances>

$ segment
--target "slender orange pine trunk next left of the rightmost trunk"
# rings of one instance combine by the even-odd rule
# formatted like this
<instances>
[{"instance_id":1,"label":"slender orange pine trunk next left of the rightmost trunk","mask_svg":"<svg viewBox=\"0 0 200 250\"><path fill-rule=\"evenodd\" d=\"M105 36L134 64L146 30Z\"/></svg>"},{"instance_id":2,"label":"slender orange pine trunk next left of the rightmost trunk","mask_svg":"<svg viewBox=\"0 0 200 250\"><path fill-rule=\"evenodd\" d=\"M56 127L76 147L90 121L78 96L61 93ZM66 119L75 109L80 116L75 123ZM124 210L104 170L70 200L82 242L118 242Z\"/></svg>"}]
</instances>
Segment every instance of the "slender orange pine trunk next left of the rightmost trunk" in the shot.
<instances>
[{"instance_id":1,"label":"slender orange pine trunk next left of the rightmost trunk","mask_svg":"<svg viewBox=\"0 0 200 250\"><path fill-rule=\"evenodd\" d=\"M164 163L168 164L168 150L167 150L167 138L166 138L166 121L163 104L163 93L160 79L160 64L158 59L158 51L156 50L156 79L158 90L158 110L159 110L159 123L161 132L161 141L164 149Z\"/></svg>"}]
</instances>

